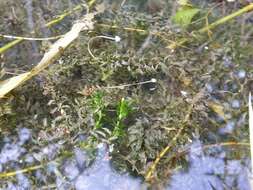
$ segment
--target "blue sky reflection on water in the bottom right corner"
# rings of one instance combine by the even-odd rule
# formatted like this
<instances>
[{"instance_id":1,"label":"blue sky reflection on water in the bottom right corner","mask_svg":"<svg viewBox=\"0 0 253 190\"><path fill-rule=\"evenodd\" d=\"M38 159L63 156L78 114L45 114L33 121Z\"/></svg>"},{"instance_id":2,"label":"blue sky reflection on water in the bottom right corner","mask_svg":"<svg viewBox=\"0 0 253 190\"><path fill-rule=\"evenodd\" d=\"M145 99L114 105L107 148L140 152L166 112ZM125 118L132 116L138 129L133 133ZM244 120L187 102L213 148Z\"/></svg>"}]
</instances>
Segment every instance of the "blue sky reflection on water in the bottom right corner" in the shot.
<instances>
[{"instance_id":1,"label":"blue sky reflection on water in the bottom right corner","mask_svg":"<svg viewBox=\"0 0 253 190\"><path fill-rule=\"evenodd\" d=\"M168 190L250 190L249 160L226 160L226 153L221 148L212 156L205 155L201 147L200 141L191 145L187 156L188 171L176 172Z\"/></svg>"}]
</instances>

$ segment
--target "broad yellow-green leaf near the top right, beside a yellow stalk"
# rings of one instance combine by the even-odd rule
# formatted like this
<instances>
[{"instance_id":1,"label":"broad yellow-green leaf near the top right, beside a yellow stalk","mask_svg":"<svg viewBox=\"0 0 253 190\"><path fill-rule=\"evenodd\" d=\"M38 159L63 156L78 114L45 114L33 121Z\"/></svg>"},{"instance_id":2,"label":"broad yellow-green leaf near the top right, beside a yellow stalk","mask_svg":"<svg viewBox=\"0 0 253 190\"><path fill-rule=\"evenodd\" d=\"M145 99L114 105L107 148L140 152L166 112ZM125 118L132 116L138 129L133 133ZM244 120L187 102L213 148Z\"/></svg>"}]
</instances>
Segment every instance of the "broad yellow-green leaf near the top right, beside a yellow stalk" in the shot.
<instances>
[{"instance_id":1,"label":"broad yellow-green leaf near the top right, beside a yellow stalk","mask_svg":"<svg viewBox=\"0 0 253 190\"><path fill-rule=\"evenodd\" d=\"M200 9L184 7L179 9L175 16L173 16L172 21L181 27L187 28L191 24L193 17L198 14Z\"/></svg>"}]
</instances>

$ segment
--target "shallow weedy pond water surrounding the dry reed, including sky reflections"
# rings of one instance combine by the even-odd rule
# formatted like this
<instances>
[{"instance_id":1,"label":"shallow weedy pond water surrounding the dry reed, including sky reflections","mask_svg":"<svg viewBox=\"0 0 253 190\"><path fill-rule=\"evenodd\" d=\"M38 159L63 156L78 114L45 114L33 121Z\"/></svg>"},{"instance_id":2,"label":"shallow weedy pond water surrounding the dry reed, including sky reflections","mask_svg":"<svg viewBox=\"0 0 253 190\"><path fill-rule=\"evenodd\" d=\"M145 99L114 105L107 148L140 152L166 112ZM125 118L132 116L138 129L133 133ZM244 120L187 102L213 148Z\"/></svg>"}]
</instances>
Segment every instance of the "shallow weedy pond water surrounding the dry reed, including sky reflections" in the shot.
<instances>
[{"instance_id":1,"label":"shallow weedy pond water surrounding the dry reed, including sky reflections","mask_svg":"<svg viewBox=\"0 0 253 190\"><path fill-rule=\"evenodd\" d=\"M253 87L250 16L214 34L214 42L176 54L151 34L126 34L123 29L160 31L164 37L171 30L180 36L184 31L170 22L177 7L174 1L104 2L110 9L96 18L94 32L82 34L50 71L0 102L0 189L251 189L247 124L247 98ZM0 34L62 35L86 13L82 3L2 0ZM203 9L217 5L217 1L193 3ZM221 11L214 14L219 18L246 6L244 3L224 1ZM45 27L80 4L63 21ZM99 28L119 23L119 31ZM233 30L238 26L239 31ZM226 33L224 39L221 33ZM118 35L122 41L94 40L93 59L87 43L102 35ZM0 46L12 40L1 38ZM4 51L0 54L1 73L5 70L1 80L31 69L53 42L23 41ZM114 89L110 86L121 84L128 86L110 91ZM97 86L105 89L104 100L91 95ZM82 96L80 89L85 89ZM204 93L198 93L200 89ZM134 100L134 114L122 116L128 99ZM158 154L185 123L189 127L161 158L154 179L145 180ZM113 126L121 124L128 137L111 140L115 138ZM98 125L102 126L99 130L94 127Z\"/></svg>"}]
</instances>

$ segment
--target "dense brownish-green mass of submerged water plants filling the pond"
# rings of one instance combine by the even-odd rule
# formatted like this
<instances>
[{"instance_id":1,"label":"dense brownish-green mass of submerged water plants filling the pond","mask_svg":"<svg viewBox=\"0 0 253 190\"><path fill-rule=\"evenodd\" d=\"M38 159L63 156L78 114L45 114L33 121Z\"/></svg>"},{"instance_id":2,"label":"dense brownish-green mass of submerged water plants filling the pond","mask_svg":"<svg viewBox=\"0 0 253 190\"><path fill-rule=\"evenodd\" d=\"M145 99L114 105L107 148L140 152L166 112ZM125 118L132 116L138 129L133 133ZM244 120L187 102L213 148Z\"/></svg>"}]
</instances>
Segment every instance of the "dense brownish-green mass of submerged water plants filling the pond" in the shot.
<instances>
[{"instance_id":1,"label":"dense brownish-green mass of submerged water plants filling the pond","mask_svg":"<svg viewBox=\"0 0 253 190\"><path fill-rule=\"evenodd\" d=\"M99 2L90 2L94 5L89 11L96 11ZM6 177L15 182L15 173L8 175L13 170L46 173L42 166L53 163L55 173L45 176L64 176L61 164L80 152L87 156L87 168L101 142L108 145L115 170L140 176L154 189L167 184L173 172L189 168L187 152L195 141L202 142L203 154L225 151L227 160L247 165L252 4L251 9L239 1L129 0L105 5L92 20L93 29L82 31L58 60L0 100L2 147L20 129L32 131L30 144L24 143L28 152L20 153L19 161L8 165L0 155L0 188L8 186ZM0 15L7 14L6 6ZM82 11L76 17L86 14L86 8L78 9ZM43 19L50 23L46 15ZM14 21L7 27L1 23L1 33L22 23L18 17ZM50 31L53 36L70 30L68 19L66 26L58 21ZM110 40L115 36L120 37L117 42ZM32 68L25 64L22 47L36 47L37 54L45 51L42 42L23 43L1 54L1 79ZM15 52L24 55L12 58ZM55 154L39 155L50 144L57 145L50 149ZM28 153L35 159L32 163L25 161ZM46 185L33 174L29 180L35 187Z\"/></svg>"}]
</instances>

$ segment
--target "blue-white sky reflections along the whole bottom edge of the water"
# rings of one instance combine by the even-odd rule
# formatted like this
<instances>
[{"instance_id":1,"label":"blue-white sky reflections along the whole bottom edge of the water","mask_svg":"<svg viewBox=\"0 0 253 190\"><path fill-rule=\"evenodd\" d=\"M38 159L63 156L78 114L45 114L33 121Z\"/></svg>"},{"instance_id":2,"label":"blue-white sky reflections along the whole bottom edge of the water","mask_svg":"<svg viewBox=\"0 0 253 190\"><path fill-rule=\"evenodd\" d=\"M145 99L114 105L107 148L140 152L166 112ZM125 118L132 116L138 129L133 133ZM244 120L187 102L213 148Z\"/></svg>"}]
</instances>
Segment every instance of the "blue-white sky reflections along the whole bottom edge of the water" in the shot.
<instances>
[{"instance_id":1,"label":"blue-white sky reflections along the whole bottom edge of the water","mask_svg":"<svg viewBox=\"0 0 253 190\"><path fill-rule=\"evenodd\" d=\"M21 166L31 166L40 158L55 159L61 148L59 144L49 144L41 148L40 152L28 152L25 148L31 141L31 131L21 128L18 131L18 140L6 137L3 139L0 152L0 171L6 168L22 169ZM249 160L228 160L222 147L213 147L204 153L203 145L196 140L189 145L187 161L188 169L175 172L168 190L222 190L239 189L249 190L248 165ZM87 155L79 148L75 148L74 157L65 160L60 166L48 164L44 169L38 169L33 174L21 173L13 178L1 180L1 189L31 189L36 179L36 188L44 186L48 180L52 181L57 189L77 190L139 190L147 189L141 178L134 178L130 174L120 174L111 167L108 147L99 144L98 154L91 166L87 167ZM40 155L40 156L38 156ZM25 163L25 164L24 164ZM52 176L52 177L51 177ZM52 180L53 179L53 180ZM44 184L44 185L42 185Z\"/></svg>"}]
</instances>

